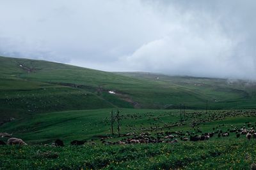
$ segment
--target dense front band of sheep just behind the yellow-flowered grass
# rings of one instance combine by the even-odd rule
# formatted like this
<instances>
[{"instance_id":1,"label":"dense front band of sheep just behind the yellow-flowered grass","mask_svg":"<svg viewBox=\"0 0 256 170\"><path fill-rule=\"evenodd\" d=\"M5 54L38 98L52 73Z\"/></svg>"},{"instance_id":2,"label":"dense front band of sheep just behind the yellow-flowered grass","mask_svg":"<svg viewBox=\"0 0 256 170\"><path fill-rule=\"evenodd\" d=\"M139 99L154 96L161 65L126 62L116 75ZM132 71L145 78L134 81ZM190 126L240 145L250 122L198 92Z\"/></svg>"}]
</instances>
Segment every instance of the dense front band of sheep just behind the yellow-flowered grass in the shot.
<instances>
[{"instance_id":1,"label":"dense front band of sheep just behind the yellow-flowered grass","mask_svg":"<svg viewBox=\"0 0 256 170\"><path fill-rule=\"evenodd\" d=\"M254 129L254 125L252 125L249 122L246 122L246 126L243 126L241 128L234 127L233 129L228 129L227 132L222 132L221 130L217 130L214 132L205 132L204 134L194 134L194 132L186 132L183 133L182 131L175 131L175 132L156 132L156 136L152 136L150 132L143 132L141 134L125 134L124 136L133 136L131 138L127 137L120 141L111 142L106 141L106 138L101 138L100 141L104 145L125 145L125 144L136 144L136 143L177 143L178 139L180 141L204 141L209 140L212 138L215 134L217 134L218 138L220 137L228 137L230 136L230 133L236 133L236 138L240 138L241 135L244 135L248 140L251 138L256 139L256 132ZM255 123L256 124L256 123ZM233 127L233 126L232 126ZM213 128L215 129L215 128ZM198 132L202 132L198 130ZM2 137L10 136L10 134L7 133L1 133ZM4 136L5 134L6 136ZM188 137L189 136L189 137ZM70 145L84 145L86 141L79 141L74 140L70 142ZM95 143L90 142L92 145L95 145ZM6 145L4 141L0 140L0 145ZM19 138L9 138L7 141L7 145L27 145L22 139ZM50 146L50 145L45 145ZM60 139L56 139L54 143L52 143L51 146L64 146L63 141Z\"/></svg>"}]
</instances>

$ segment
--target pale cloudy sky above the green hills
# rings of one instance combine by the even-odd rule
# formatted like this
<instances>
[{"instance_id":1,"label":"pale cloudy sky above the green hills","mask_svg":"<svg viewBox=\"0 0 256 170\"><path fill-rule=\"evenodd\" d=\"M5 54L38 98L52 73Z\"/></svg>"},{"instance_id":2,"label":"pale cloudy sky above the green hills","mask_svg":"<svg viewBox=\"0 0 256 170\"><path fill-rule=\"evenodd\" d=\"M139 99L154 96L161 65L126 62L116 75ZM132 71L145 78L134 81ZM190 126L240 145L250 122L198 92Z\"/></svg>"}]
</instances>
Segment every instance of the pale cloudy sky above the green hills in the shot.
<instances>
[{"instance_id":1,"label":"pale cloudy sky above the green hills","mask_svg":"<svg viewBox=\"0 0 256 170\"><path fill-rule=\"evenodd\" d=\"M256 80L254 0L0 0L0 55Z\"/></svg>"}]
</instances>

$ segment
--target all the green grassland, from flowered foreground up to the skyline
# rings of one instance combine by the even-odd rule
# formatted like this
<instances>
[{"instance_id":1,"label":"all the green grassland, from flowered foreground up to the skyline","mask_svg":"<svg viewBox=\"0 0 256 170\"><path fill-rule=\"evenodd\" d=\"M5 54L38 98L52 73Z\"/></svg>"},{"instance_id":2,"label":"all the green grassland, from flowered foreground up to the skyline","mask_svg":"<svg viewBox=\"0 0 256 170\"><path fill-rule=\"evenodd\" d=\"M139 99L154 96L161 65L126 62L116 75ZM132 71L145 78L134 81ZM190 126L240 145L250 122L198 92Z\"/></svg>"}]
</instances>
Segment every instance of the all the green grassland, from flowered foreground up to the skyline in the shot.
<instances>
[{"instance_id":1,"label":"all the green grassland, from flowered foreground up to the skyline","mask_svg":"<svg viewBox=\"0 0 256 170\"><path fill-rule=\"evenodd\" d=\"M256 139L237 134L255 129L255 103L251 81L0 57L0 132L28 143L0 145L0 169L250 169ZM111 133L112 110L120 111L120 134L116 121ZM65 146L51 146L56 139Z\"/></svg>"}]
</instances>

